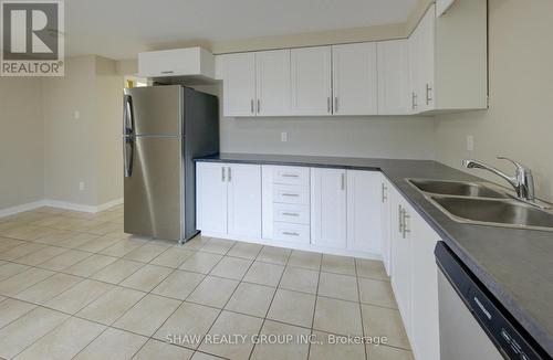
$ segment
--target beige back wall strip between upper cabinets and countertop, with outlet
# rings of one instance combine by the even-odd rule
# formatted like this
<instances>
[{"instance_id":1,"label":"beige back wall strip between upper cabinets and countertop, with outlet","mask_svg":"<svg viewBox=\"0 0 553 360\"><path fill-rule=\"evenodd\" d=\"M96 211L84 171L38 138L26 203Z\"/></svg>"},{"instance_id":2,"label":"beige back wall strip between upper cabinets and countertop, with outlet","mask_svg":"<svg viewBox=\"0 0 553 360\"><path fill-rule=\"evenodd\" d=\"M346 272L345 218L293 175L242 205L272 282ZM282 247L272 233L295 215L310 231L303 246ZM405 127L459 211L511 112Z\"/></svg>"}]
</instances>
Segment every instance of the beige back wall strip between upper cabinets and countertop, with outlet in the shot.
<instances>
[{"instance_id":1,"label":"beige back wall strip between upper cabinets and countertop, with outlet","mask_svg":"<svg viewBox=\"0 0 553 360\"><path fill-rule=\"evenodd\" d=\"M410 117L221 118L221 151L434 159L434 121ZM281 133L288 133L288 142Z\"/></svg>"}]
</instances>

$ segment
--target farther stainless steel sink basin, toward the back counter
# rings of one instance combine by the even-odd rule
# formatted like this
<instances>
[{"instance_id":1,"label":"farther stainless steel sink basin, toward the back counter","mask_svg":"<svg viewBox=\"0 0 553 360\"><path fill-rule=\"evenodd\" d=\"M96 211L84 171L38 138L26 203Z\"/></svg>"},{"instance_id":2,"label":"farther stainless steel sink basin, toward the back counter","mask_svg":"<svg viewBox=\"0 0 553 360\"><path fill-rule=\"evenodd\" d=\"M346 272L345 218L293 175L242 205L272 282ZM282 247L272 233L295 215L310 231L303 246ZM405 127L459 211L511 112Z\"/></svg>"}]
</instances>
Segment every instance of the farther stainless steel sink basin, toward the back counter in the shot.
<instances>
[{"instance_id":1,"label":"farther stainless steel sink basin, toward the back counter","mask_svg":"<svg viewBox=\"0 0 553 360\"><path fill-rule=\"evenodd\" d=\"M437 193L442 195L455 197L476 197L476 198L493 198L505 199L505 194L488 188L478 182L465 181L447 181L447 180L427 180L427 179L408 179L408 181L417 189L424 192Z\"/></svg>"}]
</instances>

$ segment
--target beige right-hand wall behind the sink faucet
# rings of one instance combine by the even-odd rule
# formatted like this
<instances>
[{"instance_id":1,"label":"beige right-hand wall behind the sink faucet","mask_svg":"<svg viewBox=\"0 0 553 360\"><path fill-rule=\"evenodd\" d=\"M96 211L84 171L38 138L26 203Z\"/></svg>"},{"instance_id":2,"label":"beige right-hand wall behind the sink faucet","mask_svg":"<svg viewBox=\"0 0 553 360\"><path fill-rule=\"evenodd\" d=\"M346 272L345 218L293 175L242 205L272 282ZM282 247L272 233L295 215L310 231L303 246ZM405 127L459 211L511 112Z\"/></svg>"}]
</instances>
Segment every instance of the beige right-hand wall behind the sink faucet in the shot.
<instances>
[{"instance_id":1,"label":"beige right-hand wall behind the sink faucet","mask_svg":"<svg viewBox=\"0 0 553 360\"><path fill-rule=\"evenodd\" d=\"M490 108L439 116L437 160L460 168L477 158L512 172L494 159L512 157L534 170L538 195L553 200L553 1L490 0L489 13ZM467 135L474 151L466 149Z\"/></svg>"}]
</instances>

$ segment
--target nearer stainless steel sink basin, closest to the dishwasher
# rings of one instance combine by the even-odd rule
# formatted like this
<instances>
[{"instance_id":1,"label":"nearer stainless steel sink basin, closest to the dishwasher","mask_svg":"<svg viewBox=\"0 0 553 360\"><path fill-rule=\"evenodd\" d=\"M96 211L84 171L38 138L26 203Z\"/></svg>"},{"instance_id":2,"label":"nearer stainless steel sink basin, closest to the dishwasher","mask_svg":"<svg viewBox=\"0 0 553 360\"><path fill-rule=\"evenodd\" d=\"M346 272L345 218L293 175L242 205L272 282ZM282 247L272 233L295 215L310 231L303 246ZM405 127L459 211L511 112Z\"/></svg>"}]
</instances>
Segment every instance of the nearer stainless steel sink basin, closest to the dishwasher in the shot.
<instances>
[{"instance_id":1,"label":"nearer stainless steel sink basin, closest to the dishwasher","mask_svg":"<svg viewBox=\"0 0 553 360\"><path fill-rule=\"evenodd\" d=\"M517 200L440 195L431 195L429 199L456 221L553 231L553 213Z\"/></svg>"}]
</instances>

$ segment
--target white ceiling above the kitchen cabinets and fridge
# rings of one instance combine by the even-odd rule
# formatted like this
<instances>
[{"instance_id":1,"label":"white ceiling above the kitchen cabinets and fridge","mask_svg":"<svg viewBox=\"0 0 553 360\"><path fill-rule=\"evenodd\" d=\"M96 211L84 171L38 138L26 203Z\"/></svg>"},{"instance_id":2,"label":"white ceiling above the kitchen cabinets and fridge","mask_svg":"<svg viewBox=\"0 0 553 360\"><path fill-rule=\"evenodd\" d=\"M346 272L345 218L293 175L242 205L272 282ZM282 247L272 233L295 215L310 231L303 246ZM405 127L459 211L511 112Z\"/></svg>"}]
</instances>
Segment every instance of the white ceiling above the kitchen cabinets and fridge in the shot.
<instances>
[{"instance_id":1,"label":"white ceiling above the kitchen cabinets and fridge","mask_svg":"<svg viewBox=\"0 0 553 360\"><path fill-rule=\"evenodd\" d=\"M66 0L67 55L405 22L417 0Z\"/></svg>"}]
</instances>

